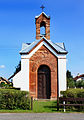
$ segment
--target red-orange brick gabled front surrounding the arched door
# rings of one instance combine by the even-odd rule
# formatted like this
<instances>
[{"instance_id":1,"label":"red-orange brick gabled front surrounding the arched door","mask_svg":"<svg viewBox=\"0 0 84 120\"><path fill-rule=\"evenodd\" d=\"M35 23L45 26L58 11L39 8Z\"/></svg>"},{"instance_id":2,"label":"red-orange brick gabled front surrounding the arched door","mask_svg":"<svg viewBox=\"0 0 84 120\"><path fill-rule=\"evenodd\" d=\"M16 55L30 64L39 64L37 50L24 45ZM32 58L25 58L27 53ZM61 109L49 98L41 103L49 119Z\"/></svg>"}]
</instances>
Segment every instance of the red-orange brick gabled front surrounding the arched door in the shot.
<instances>
[{"instance_id":1,"label":"red-orange brick gabled front surrounding the arched door","mask_svg":"<svg viewBox=\"0 0 84 120\"><path fill-rule=\"evenodd\" d=\"M45 52L48 52L48 54ZM43 56L44 54L44 56ZM42 46L29 60L29 91L30 95L38 98L38 68L47 65L51 70L51 98L57 98L57 58L45 47Z\"/></svg>"}]
</instances>

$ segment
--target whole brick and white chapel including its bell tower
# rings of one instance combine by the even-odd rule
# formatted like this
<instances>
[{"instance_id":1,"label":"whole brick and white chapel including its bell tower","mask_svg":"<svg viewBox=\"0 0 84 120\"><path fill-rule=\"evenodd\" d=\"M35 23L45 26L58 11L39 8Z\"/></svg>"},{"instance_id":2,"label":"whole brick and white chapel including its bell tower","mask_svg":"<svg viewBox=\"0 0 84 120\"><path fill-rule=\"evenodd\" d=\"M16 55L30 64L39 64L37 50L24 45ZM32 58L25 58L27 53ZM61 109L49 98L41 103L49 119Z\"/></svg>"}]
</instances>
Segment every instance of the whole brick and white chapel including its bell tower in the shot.
<instances>
[{"instance_id":1,"label":"whole brick and white chapel including its bell tower","mask_svg":"<svg viewBox=\"0 0 84 120\"><path fill-rule=\"evenodd\" d=\"M50 39L50 16L42 12L35 24L36 39L22 44L21 71L13 77L13 86L29 91L34 99L57 99L66 90L67 51L64 43Z\"/></svg>"}]
</instances>

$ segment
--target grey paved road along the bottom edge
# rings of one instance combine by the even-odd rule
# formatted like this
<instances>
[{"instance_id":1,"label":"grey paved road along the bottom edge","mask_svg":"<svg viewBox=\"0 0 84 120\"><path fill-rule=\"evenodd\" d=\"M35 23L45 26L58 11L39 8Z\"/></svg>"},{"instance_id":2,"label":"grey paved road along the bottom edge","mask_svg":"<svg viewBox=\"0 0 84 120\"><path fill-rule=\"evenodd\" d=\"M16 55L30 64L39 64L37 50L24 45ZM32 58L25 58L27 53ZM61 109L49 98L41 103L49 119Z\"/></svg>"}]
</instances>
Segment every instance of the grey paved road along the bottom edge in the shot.
<instances>
[{"instance_id":1,"label":"grey paved road along the bottom edge","mask_svg":"<svg viewBox=\"0 0 84 120\"><path fill-rule=\"evenodd\" d=\"M83 113L0 113L0 120L84 120Z\"/></svg>"}]
</instances>

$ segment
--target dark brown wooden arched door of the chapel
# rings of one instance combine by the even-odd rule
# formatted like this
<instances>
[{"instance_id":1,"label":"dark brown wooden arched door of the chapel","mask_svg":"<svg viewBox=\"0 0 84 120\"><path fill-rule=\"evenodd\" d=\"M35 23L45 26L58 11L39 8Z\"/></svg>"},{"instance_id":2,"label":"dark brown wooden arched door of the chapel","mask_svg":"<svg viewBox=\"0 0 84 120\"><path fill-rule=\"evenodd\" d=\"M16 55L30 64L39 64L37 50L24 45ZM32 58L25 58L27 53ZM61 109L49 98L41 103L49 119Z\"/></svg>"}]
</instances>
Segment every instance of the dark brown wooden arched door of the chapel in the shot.
<instances>
[{"instance_id":1,"label":"dark brown wooden arched door of the chapel","mask_svg":"<svg viewBox=\"0 0 84 120\"><path fill-rule=\"evenodd\" d=\"M38 68L38 98L50 99L51 96L51 72L46 65Z\"/></svg>"}]
</instances>

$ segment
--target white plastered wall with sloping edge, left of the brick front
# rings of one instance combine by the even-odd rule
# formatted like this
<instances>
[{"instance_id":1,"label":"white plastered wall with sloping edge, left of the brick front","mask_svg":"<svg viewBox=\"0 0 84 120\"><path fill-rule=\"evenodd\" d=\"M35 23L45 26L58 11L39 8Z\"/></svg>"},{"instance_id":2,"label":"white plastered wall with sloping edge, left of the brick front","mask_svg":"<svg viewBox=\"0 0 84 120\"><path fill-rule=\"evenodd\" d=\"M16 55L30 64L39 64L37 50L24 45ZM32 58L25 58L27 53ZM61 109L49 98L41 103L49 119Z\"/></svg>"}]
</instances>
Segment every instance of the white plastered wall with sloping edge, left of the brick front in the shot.
<instances>
[{"instance_id":1,"label":"white plastered wall with sloping edge, left of the brick front","mask_svg":"<svg viewBox=\"0 0 84 120\"><path fill-rule=\"evenodd\" d=\"M13 86L29 91L29 59L21 59L21 71L13 77Z\"/></svg>"}]
</instances>

